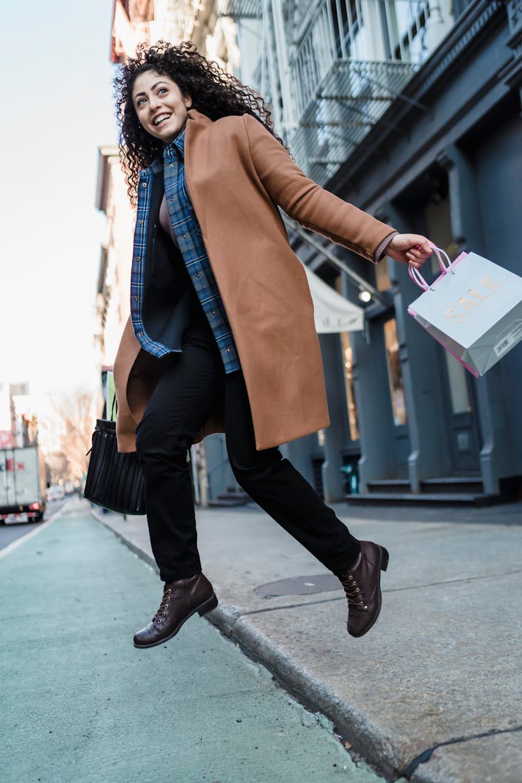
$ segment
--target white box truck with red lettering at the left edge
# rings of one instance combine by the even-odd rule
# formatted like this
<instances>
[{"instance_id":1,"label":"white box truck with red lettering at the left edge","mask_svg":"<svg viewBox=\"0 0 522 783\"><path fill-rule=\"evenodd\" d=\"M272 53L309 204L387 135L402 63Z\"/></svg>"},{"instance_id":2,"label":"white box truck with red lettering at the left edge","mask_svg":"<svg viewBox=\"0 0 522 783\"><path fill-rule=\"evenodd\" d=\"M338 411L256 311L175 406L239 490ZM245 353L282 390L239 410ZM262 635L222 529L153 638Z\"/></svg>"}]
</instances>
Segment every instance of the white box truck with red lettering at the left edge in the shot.
<instances>
[{"instance_id":1,"label":"white box truck with red lettering at the left edge","mask_svg":"<svg viewBox=\"0 0 522 783\"><path fill-rule=\"evenodd\" d=\"M0 521L39 522L45 511L45 469L37 446L0 449Z\"/></svg>"}]
</instances>

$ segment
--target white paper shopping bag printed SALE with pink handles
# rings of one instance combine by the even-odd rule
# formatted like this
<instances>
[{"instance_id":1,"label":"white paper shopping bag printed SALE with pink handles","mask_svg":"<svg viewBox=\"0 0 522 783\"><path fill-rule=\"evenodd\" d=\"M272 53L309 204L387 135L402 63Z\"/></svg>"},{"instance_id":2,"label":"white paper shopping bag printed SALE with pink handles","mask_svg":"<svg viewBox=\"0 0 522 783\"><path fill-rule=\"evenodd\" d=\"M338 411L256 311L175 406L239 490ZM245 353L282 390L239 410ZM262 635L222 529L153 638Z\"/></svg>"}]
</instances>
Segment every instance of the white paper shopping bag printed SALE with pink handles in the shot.
<instances>
[{"instance_id":1,"label":"white paper shopping bag printed SALE with pink handles","mask_svg":"<svg viewBox=\"0 0 522 783\"><path fill-rule=\"evenodd\" d=\"M484 375L522 340L522 277L477 253L450 262L434 252L442 272L434 283L409 267L423 294L408 312L470 373Z\"/></svg>"}]
</instances>

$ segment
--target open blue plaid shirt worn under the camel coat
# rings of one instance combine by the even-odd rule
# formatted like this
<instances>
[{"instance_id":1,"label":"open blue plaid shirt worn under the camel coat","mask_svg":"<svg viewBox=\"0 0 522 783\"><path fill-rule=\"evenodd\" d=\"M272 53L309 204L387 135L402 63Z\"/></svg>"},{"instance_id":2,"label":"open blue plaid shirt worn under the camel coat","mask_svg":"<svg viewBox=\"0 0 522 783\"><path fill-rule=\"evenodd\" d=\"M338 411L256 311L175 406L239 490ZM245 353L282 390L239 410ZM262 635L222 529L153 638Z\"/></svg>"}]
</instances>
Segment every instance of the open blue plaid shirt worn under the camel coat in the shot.
<instances>
[{"instance_id":1,"label":"open blue plaid shirt worn under the camel coat","mask_svg":"<svg viewBox=\"0 0 522 783\"><path fill-rule=\"evenodd\" d=\"M189 199L185 180L185 129L177 139L168 144L163 153L164 187L171 226L178 240L179 250L190 279L200 300L203 312L218 344L225 373L240 370L239 355L232 336L229 319L221 300L218 284L203 244L201 229ZM134 252L131 271L131 321L142 348L153 356L172 353L171 348L153 341L146 333L142 318L143 263L146 256L146 232L149 218L150 193L153 175L161 171L157 160L140 172L138 211L134 235Z\"/></svg>"}]
</instances>

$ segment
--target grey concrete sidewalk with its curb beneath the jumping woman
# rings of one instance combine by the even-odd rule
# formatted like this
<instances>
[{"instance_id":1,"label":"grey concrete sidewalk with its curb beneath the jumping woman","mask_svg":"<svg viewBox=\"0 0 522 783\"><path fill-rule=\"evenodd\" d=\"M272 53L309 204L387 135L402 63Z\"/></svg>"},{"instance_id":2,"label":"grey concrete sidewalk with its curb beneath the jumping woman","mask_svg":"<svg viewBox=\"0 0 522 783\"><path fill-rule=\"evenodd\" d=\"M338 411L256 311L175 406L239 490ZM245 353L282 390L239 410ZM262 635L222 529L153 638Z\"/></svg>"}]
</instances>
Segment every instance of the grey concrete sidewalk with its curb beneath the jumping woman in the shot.
<instances>
[{"instance_id":1,"label":"grey concrete sidewalk with its curb beneath the jumping woman","mask_svg":"<svg viewBox=\"0 0 522 783\"><path fill-rule=\"evenodd\" d=\"M220 601L208 619L390 780L520 783L522 503L335 509L355 536L391 553L383 611L367 636L347 635L344 594L332 583L296 594L325 569L254 507L197 512L203 569ZM94 513L154 565L145 518ZM256 592L292 577L308 579L290 594Z\"/></svg>"}]
</instances>

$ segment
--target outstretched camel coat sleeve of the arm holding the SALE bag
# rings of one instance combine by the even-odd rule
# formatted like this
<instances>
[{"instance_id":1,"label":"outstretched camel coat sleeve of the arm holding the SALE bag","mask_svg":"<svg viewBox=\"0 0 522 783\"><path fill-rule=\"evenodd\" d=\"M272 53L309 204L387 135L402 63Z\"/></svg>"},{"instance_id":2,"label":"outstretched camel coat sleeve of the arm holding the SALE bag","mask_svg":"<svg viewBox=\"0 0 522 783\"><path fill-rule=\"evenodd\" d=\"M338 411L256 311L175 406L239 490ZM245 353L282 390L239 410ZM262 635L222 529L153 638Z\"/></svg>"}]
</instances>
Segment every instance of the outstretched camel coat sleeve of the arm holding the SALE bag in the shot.
<instances>
[{"instance_id":1,"label":"outstretched camel coat sleeve of the arm holding the SALE bag","mask_svg":"<svg viewBox=\"0 0 522 783\"><path fill-rule=\"evenodd\" d=\"M308 179L261 122L243 115L254 168L275 204L307 229L379 262L395 229Z\"/></svg>"}]
</instances>

